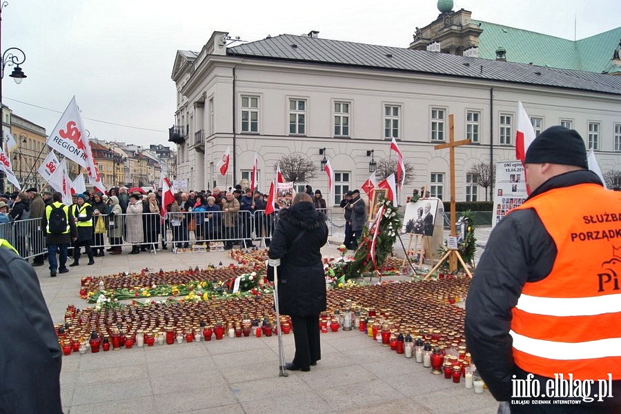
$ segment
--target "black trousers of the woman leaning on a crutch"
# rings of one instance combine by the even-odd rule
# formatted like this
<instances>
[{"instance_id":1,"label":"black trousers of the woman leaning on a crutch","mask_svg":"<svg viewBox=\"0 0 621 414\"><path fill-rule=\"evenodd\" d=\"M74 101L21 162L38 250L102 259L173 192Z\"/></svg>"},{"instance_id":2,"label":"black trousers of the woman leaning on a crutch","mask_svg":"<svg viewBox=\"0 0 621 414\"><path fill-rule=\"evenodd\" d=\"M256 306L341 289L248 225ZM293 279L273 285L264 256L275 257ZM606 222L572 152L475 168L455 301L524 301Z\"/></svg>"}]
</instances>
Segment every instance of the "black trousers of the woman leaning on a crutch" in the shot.
<instances>
[{"instance_id":1,"label":"black trousers of the woman leaning on a crutch","mask_svg":"<svg viewBox=\"0 0 621 414\"><path fill-rule=\"evenodd\" d=\"M291 316L293 322L293 339L295 357L293 364L300 368L311 366L311 362L322 359L322 345L319 339L319 315L300 317Z\"/></svg>"}]
</instances>

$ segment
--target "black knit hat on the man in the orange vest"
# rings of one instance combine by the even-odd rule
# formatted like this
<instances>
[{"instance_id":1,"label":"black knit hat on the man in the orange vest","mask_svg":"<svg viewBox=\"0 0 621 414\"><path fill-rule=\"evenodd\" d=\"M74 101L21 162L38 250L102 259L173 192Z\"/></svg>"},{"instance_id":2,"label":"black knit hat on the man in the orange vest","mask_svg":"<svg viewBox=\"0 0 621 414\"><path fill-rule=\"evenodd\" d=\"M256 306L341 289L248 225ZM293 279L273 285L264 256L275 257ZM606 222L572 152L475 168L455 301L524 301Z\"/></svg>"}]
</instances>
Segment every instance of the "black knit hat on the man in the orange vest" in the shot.
<instances>
[{"instance_id":1,"label":"black knit hat on the man in the orange vest","mask_svg":"<svg viewBox=\"0 0 621 414\"><path fill-rule=\"evenodd\" d=\"M544 163L589 168L580 134L564 126L551 126L541 132L526 151L524 164Z\"/></svg>"}]
</instances>

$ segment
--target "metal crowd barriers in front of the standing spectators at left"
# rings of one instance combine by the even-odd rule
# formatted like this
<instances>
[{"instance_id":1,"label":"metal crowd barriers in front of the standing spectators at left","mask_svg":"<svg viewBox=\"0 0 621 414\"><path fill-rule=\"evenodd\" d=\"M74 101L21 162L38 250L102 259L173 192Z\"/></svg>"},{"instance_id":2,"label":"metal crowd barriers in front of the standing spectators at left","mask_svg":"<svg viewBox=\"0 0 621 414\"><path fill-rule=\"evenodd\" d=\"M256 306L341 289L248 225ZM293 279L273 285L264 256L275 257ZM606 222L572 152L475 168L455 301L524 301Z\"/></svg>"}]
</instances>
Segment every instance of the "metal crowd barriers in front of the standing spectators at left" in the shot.
<instances>
[{"instance_id":1,"label":"metal crowd barriers in front of the standing spectators at left","mask_svg":"<svg viewBox=\"0 0 621 414\"><path fill-rule=\"evenodd\" d=\"M333 211L320 210L328 216L328 230L332 235ZM27 219L0 224L0 238L6 239L26 259L44 255L47 248L41 221ZM269 246L276 221L277 214L266 215L265 210L235 213L195 210L166 213L164 217L159 213L99 215L93 217L91 246L100 249L137 244L153 251L160 246L264 247Z\"/></svg>"}]
</instances>

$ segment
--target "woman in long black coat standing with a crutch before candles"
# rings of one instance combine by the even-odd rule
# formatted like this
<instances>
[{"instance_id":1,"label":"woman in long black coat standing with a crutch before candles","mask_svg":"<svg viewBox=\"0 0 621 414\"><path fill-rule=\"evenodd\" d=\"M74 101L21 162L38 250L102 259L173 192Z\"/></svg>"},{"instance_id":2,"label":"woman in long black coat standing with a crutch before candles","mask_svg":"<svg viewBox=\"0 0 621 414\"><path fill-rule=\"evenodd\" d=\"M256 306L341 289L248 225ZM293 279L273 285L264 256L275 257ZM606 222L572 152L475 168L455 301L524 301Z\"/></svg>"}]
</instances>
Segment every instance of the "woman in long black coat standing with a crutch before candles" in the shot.
<instances>
[{"instance_id":1,"label":"woman in long black coat standing with a crutch before candles","mask_svg":"<svg viewBox=\"0 0 621 414\"><path fill-rule=\"evenodd\" d=\"M270 244L270 259L278 268L279 311L293 322L295 357L290 371L310 371L322 357L319 313L326 310L326 279L321 248L328 242L326 215L306 193L297 193L290 208L278 215Z\"/></svg>"}]
</instances>

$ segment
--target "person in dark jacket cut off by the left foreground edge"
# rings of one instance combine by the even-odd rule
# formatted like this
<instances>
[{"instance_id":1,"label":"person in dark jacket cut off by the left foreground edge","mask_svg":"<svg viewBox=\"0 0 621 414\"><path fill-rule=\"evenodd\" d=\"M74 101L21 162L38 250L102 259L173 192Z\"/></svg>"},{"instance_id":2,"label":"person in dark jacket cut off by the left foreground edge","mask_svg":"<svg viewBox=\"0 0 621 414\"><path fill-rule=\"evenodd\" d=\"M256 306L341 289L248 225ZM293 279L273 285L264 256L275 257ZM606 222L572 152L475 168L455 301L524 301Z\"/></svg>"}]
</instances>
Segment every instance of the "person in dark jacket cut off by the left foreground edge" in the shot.
<instances>
[{"instance_id":1,"label":"person in dark jacket cut off by the left foreground edge","mask_svg":"<svg viewBox=\"0 0 621 414\"><path fill-rule=\"evenodd\" d=\"M0 239L0 411L62 413L62 353L34 268Z\"/></svg>"}]
</instances>

